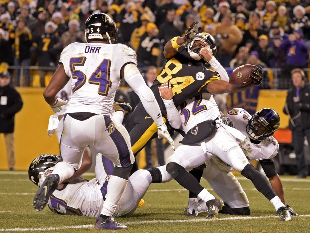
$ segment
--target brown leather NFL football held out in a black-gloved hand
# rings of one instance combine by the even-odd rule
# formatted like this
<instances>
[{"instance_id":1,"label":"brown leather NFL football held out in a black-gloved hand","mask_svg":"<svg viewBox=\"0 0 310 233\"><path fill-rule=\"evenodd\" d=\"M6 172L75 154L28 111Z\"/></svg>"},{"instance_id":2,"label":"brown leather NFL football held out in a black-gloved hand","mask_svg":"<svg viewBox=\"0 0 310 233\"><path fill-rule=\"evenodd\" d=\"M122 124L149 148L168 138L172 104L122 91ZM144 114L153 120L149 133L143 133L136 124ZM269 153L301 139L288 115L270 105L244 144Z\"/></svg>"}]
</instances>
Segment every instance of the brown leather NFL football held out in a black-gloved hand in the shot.
<instances>
[{"instance_id":1,"label":"brown leather NFL football held out in a black-gloved hand","mask_svg":"<svg viewBox=\"0 0 310 233\"><path fill-rule=\"evenodd\" d=\"M232 74L229 77L229 83L237 87L243 87L250 84L253 82L250 75L252 74L251 69L254 67L254 65L243 65L237 67L232 71Z\"/></svg>"}]
</instances>

